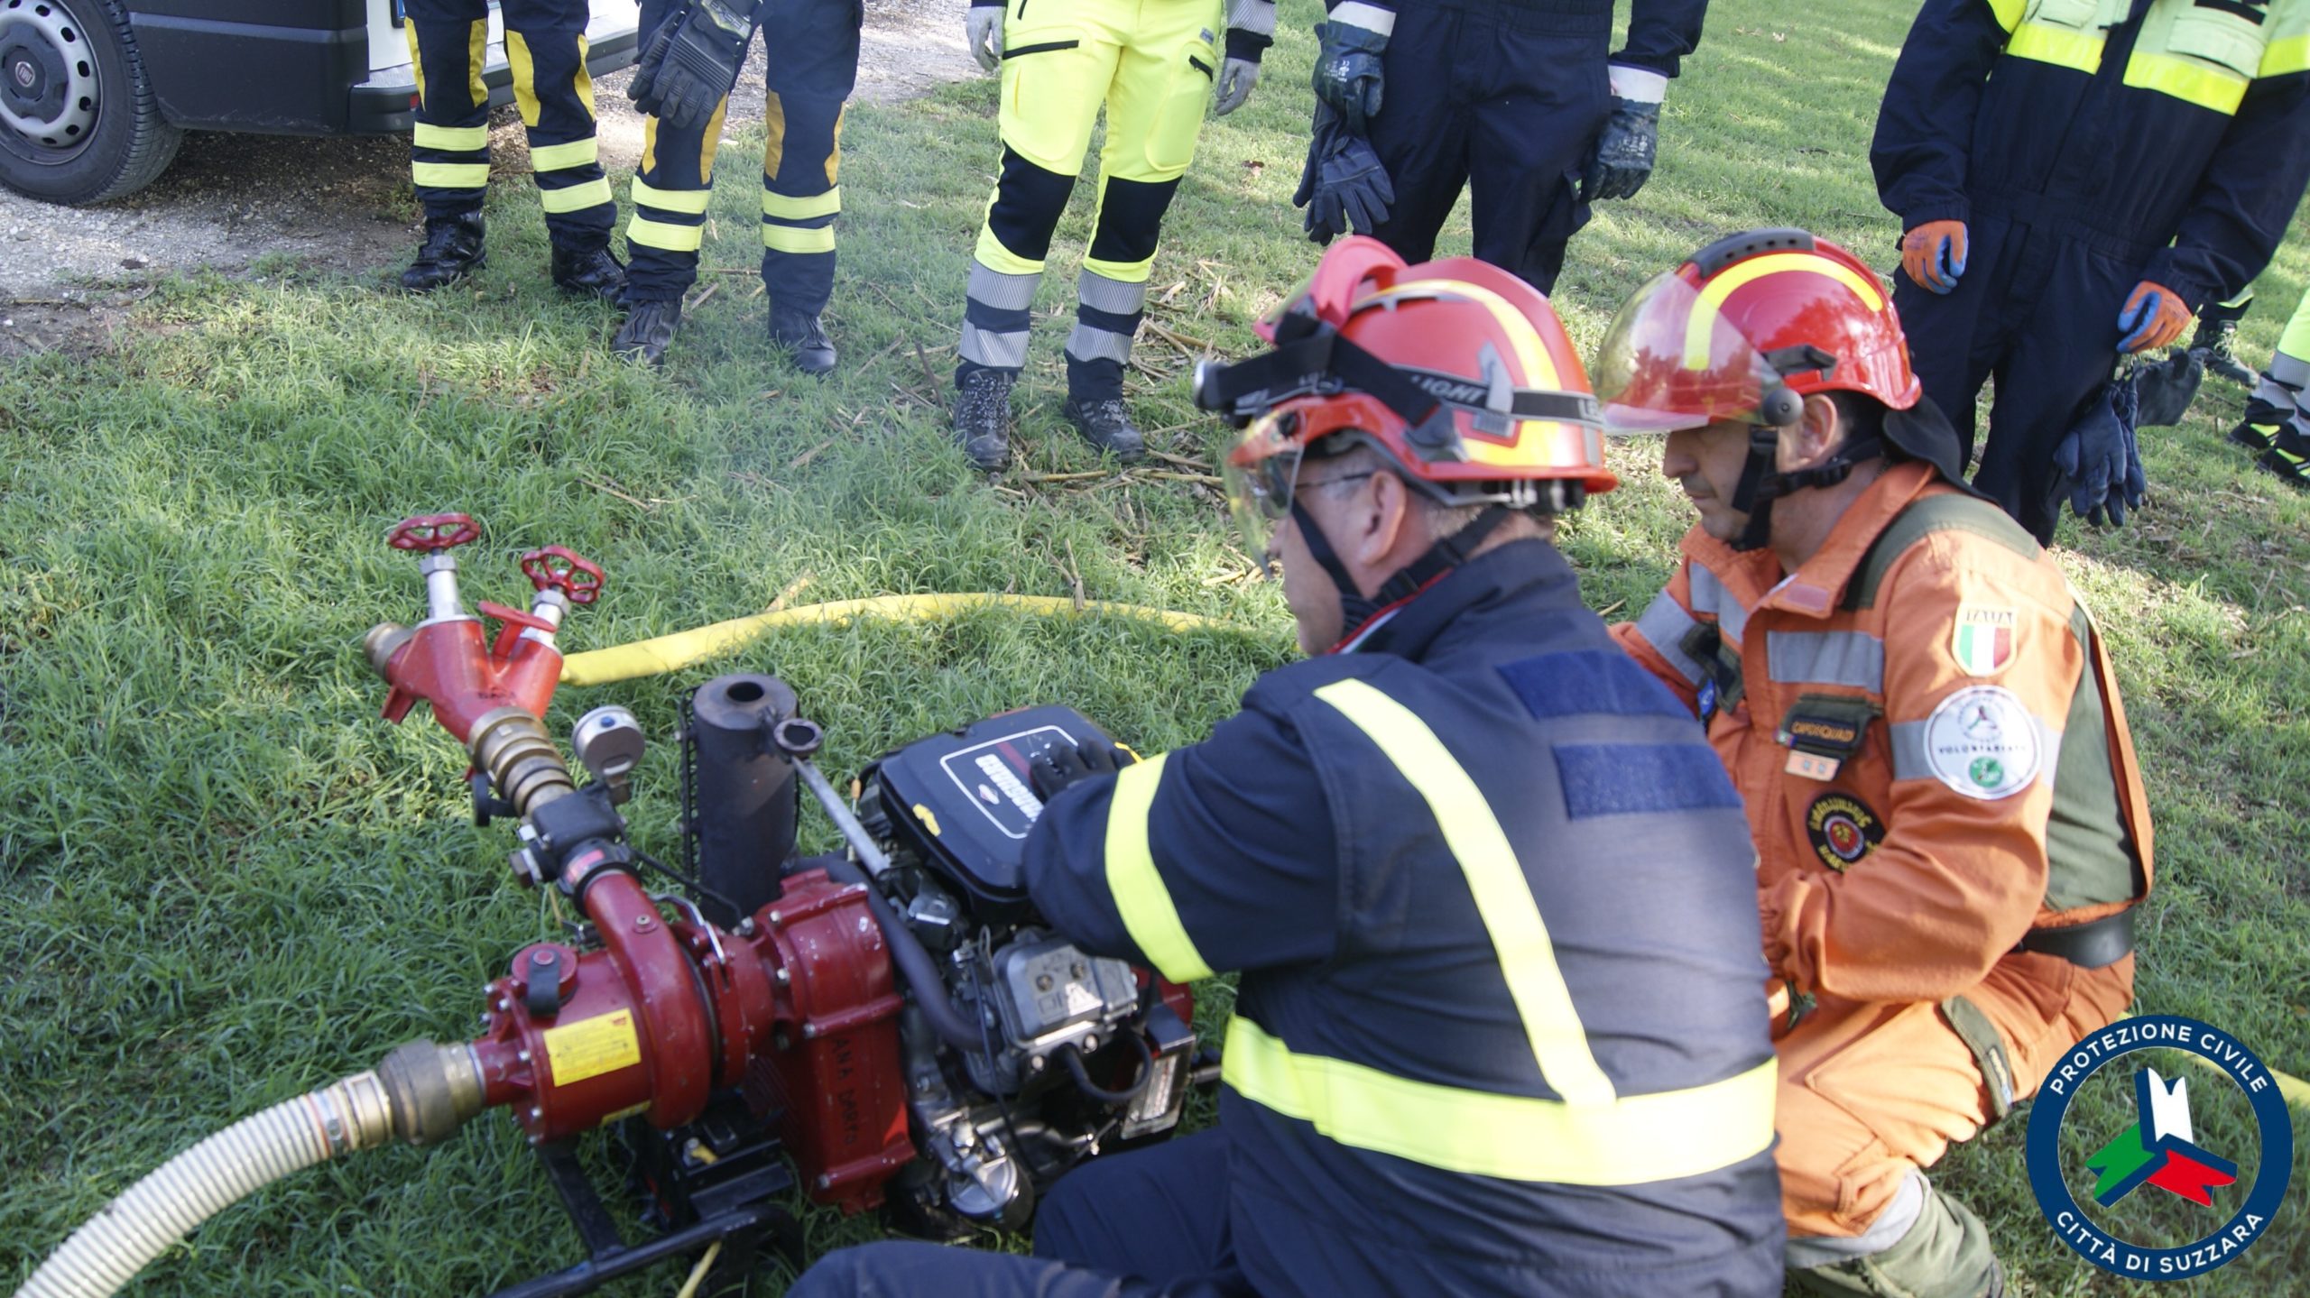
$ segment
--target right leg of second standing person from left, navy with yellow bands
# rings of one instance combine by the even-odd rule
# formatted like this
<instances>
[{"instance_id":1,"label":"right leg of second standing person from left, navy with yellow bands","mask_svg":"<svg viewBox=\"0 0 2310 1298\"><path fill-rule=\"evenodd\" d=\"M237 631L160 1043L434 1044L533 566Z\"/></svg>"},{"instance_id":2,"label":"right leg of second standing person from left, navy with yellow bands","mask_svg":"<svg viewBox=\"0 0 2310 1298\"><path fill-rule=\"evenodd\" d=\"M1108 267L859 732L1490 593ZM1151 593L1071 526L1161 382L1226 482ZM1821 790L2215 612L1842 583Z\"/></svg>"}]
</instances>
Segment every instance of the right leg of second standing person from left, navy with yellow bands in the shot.
<instances>
[{"instance_id":1,"label":"right leg of second standing person from left, navy with yellow bands","mask_svg":"<svg viewBox=\"0 0 2310 1298\"><path fill-rule=\"evenodd\" d=\"M785 7L785 5L781 5ZM762 125L762 286L769 340L804 374L834 370L834 344L818 316L834 296L834 217L843 210L843 102L857 85L855 0L785 7L781 55L769 67Z\"/></svg>"}]
</instances>

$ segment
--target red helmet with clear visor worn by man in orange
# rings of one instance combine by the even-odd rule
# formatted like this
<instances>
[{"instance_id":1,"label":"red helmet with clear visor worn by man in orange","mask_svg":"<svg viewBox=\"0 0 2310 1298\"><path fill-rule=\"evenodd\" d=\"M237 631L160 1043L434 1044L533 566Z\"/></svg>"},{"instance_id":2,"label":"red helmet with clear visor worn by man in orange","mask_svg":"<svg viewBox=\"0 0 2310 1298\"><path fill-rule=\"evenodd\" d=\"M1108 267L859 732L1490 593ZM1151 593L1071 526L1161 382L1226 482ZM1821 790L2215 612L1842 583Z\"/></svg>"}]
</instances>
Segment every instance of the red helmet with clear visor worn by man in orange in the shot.
<instances>
[{"instance_id":1,"label":"red helmet with clear visor worn by man in orange","mask_svg":"<svg viewBox=\"0 0 2310 1298\"><path fill-rule=\"evenodd\" d=\"M1783 425L1806 395L1830 390L1897 411L1922 397L1885 282L1799 229L1702 247L1638 289L1596 353L1612 432Z\"/></svg>"}]
</instances>

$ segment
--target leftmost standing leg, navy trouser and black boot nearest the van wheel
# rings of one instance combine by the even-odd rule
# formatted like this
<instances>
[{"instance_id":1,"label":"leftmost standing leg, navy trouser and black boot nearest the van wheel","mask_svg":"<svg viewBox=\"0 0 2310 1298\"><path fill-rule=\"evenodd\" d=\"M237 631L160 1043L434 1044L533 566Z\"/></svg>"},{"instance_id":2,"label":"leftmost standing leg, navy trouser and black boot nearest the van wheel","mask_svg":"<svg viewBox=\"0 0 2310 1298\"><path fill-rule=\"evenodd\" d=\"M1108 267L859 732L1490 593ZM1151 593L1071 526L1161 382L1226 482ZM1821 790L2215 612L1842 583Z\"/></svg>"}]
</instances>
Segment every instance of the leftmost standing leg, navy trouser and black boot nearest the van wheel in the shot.
<instances>
[{"instance_id":1,"label":"leftmost standing leg, navy trouser and black boot nearest the van wheel","mask_svg":"<svg viewBox=\"0 0 2310 1298\"><path fill-rule=\"evenodd\" d=\"M402 270L402 289L430 293L487 266L480 199L490 185L490 49L483 0L409 0L402 32L418 76L418 125L409 178L425 206L425 245Z\"/></svg>"}]
</instances>

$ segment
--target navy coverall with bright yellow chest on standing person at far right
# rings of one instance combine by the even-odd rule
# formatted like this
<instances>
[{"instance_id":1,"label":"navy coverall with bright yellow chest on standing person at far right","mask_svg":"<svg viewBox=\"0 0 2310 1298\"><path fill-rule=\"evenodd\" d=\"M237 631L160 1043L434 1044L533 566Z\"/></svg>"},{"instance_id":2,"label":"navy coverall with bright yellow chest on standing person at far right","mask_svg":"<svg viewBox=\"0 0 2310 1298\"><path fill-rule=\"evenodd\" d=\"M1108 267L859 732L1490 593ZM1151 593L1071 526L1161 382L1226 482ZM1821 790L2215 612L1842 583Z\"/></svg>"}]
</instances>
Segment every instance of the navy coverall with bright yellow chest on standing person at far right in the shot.
<instances>
[{"instance_id":1,"label":"navy coverall with bright yellow chest on standing person at far right","mask_svg":"<svg viewBox=\"0 0 2310 1298\"><path fill-rule=\"evenodd\" d=\"M2194 312L2245 289L2310 176L2310 0L1927 0L1878 111L1901 229L1968 226L1947 296L1894 275L1924 395L1973 485L2054 538L2054 448L2116 367L2141 279Z\"/></svg>"}]
</instances>

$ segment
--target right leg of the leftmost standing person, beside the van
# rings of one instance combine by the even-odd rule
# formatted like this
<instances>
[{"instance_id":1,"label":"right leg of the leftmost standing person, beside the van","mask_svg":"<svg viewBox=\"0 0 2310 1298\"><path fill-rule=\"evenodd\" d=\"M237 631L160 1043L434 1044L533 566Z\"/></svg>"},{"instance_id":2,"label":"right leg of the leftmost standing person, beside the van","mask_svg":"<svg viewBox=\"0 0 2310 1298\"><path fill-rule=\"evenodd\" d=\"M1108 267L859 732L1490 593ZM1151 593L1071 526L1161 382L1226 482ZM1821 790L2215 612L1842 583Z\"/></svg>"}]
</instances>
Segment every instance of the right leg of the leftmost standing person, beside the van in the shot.
<instances>
[{"instance_id":1,"label":"right leg of the leftmost standing person, beside the van","mask_svg":"<svg viewBox=\"0 0 2310 1298\"><path fill-rule=\"evenodd\" d=\"M584 69L584 0L501 0L513 104L529 129L529 166L545 206L554 286L617 303L626 268L610 254L617 199L594 139L594 79Z\"/></svg>"}]
</instances>

